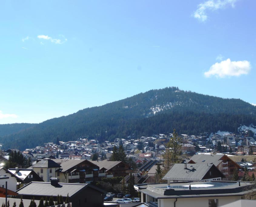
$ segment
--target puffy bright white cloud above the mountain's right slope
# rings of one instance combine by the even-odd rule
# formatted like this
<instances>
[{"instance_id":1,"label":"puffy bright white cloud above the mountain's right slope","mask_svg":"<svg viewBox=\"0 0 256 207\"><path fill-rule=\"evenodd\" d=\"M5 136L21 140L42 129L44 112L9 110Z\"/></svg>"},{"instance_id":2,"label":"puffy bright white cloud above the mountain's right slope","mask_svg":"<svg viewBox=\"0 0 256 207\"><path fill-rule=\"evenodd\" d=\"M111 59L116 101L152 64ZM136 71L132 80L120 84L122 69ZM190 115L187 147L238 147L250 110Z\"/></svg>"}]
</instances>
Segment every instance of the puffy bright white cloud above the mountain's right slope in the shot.
<instances>
[{"instance_id":1,"label":"puffy bright white cloud above the mountain's right slope","mask_svg":"<svg viewBox=\"0 0 256 207\"><path fill-rule=\"evenodd\" d=\"M205 77L216 76L224 78L227 76L240 76L242 74L248 74L251 70L251 64L249 61L221 61L220 63L213 64L209 71L204 73Z\"/></svg>"}]
</instances>

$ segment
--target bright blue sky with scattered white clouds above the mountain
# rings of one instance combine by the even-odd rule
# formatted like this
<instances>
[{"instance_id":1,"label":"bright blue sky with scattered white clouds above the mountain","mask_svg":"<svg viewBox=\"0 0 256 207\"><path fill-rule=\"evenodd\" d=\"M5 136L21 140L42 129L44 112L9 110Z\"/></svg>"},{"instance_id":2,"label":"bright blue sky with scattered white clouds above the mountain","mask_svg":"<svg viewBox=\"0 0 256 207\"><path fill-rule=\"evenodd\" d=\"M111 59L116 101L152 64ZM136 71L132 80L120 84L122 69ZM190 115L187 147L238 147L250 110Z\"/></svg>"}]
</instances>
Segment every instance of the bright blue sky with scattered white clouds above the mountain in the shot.
<instances>
[{"instance_id":1,"label":"bright blue sky with scattered white clouds above the mountain","mask_svg":"<svg viewBox=\"0 0 256 207\"><path fill-rule=\"evenodd\" d=\"M256 104L256 1L0 1L0 124L175 86Z\"/></svg>"}]
</instances>

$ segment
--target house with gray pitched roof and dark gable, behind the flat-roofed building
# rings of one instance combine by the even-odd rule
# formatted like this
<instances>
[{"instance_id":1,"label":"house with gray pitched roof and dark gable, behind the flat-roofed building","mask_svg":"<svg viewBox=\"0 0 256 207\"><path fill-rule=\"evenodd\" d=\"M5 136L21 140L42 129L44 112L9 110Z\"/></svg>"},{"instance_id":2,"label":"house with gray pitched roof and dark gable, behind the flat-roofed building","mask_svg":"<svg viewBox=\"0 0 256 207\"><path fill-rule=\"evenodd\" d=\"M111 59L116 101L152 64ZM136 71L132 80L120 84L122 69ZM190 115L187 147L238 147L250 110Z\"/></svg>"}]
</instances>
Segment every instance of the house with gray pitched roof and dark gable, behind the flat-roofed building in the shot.
<instances>
[{"instance_id":1,"label":"house with gray pitched roof and dark gable, behind the flat-roofed building","mask_svg":"<svg viewBox=\"0 0 256 207\"><path fill-rule=\"evenodd\" d=\"M162 180L170 182L221 180L225 176L214 164L174 164Z\"/></svg>"}]
</instances>

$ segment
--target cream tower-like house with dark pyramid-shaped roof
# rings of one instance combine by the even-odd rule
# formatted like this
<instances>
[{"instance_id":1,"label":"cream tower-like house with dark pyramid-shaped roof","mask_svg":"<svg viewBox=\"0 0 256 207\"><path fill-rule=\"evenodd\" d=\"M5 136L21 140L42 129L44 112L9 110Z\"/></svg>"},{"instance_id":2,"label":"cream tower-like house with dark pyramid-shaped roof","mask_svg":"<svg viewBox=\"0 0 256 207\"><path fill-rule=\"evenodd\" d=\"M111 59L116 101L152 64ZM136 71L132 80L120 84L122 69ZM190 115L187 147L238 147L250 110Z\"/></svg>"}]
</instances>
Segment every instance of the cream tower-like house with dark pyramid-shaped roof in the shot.
<instances>
[{"instance_id":1,"label":"cream tower-like house with dark pyramid-shaped roof","mask_svg":"<svg viewBox=\"0 0 256 207\"><path fill-rule=\"evenodd\" d=\"M50 178L57 177L56 172L61 166L55 163L51 159L43 159L32 166L32 169L43 179L45 182L49 182Z\"/></svg>"}]
</instances>

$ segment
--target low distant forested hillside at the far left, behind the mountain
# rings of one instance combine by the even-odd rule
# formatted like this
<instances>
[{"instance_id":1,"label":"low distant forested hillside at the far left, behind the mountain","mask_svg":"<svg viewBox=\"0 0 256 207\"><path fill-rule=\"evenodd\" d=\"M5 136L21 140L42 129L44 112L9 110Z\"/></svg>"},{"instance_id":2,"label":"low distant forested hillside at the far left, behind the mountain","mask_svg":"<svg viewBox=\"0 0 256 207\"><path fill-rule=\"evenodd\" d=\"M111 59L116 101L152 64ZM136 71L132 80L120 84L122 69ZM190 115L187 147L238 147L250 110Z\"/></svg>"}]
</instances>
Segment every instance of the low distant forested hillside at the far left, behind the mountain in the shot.
<instances>
[{"instance_id":1,"label":"low distant forested hillside at the far left, behind the mountain","mask_svg":"<svg viewBox=\"0 0 256 207\"><path fill-rule=\"evenodd\" d=\"M35 125L31 123L0 124L0 136L10 135L34 127Z\"/></svg>"}]
</instances>

